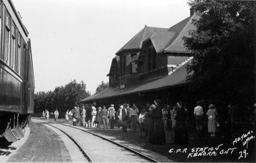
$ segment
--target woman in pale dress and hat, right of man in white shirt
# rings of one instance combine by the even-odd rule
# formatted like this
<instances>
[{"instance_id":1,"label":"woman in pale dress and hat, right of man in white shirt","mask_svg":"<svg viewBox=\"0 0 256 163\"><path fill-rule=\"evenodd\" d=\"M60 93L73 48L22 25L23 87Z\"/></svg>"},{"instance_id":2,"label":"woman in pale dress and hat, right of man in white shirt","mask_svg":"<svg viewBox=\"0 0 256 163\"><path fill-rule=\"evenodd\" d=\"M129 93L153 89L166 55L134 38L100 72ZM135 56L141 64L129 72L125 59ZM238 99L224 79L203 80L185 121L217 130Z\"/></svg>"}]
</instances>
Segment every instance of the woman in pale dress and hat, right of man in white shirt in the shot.
<instances>
[{"instance_id":1,"label":"woman in pale dress and hat, right of man in white shirt","mask_svg":"<svg viewBox=\"0 0 256 163\"><path fill-rule=\"evenodd\" d=\"M206 115L208 116L208 132L211 133L210 137L215 137L217 113L214 110L214 104L209 105Z\"/></svg>"}]
</instances>

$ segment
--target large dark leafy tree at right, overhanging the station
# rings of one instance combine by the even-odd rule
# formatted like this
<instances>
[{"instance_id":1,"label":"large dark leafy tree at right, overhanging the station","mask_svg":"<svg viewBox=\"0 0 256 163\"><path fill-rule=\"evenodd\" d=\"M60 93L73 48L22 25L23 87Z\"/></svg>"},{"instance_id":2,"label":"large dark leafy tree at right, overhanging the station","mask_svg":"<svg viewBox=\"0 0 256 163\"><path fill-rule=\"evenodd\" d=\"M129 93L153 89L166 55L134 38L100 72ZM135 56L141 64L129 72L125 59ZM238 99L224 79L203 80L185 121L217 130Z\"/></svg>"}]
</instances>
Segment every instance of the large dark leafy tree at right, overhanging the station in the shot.
<instances>
[{"instance_id":1,"label":"large dark leafy tree at right, overhanging the station","mask_svg":"<svg viewBox=\"0 0 256 163\"><path fill-rule=\"evenodd\" d=\"M216 102L253 102L255 92L254 1L189 1L202 14L183 37L194 60L187 66L191 91Z\"/></svg>"}]
</instances>

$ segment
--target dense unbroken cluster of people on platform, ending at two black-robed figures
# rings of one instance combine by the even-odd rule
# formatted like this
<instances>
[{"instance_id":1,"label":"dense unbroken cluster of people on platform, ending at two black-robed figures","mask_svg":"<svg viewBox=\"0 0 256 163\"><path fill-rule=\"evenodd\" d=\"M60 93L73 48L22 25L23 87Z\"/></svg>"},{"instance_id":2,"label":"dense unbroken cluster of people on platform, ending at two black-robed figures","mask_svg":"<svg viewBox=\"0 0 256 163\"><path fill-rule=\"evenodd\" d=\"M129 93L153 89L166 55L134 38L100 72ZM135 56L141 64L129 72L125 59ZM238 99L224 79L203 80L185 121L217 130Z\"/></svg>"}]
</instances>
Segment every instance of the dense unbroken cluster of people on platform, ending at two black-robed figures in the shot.
<instances>
[{"instance_id":1,"label":"dense unbroken cluster of people on platform, ending at two black-robed figures","mask_svg":"<svg viewBox=\"0 0 256 163\"><path fill-rule=\"evenodd\" d=\"M177 111L176 111L177 110ZM183 111L182 111L183 110ZM66 121L73 122L73 125L81 125L84 127L94 127L99 129L103 125L103 129L114 129L114 123L123 132L127 132L127 128L131 132L137 132L140 129L140 138L147 139L149 143L161 144L165 143L165 130L169 114L173 114L174 124L176 128L175 142L177 144L187 144L188 136L186 133L185 109L182 102L177 103L175 111L169 105L164 107L160 99L156 99L154 104L147 102L146 106L139 108L135 103L130 107L128 103L120 105L116 111L114 104L107 109L105 105L96 108L95 106L85 108L84 106L75 106L72 110L67 110ZM171 117L171 116L169 116ZM174 125L173 125L174 126ZM181 143L183 142L183 143Z\"/></svg>"}]
</instances>

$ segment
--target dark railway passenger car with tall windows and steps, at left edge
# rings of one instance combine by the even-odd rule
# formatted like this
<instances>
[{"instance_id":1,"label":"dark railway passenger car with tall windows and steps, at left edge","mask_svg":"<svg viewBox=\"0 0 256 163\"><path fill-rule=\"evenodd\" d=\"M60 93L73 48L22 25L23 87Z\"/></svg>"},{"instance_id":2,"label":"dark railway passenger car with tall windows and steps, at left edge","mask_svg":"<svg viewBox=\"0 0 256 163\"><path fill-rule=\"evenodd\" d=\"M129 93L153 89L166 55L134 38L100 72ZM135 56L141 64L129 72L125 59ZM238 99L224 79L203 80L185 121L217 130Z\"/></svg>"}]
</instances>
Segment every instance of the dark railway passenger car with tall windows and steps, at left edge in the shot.
<instances>
[{"instance_id":1,"label":"dark railway passenger car with tall windows and steps, at left edge","mask_svg":"<svg viewBox=\"0 0 256 163\"><path fill-rule=\"evenodd\" d=\"M15 142L34 112L28 31L11 0L0 0L0 141Z\"/></svg>"}]
</instances>

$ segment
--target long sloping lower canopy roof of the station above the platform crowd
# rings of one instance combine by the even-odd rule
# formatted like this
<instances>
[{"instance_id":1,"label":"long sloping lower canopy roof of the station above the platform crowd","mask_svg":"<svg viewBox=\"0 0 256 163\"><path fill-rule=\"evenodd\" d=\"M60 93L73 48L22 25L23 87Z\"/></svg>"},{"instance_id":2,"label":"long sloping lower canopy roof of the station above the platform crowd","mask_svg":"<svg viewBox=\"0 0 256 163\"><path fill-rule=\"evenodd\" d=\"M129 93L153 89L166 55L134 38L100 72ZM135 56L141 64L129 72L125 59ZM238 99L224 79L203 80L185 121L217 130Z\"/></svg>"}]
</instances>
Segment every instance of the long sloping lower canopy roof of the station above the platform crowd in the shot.
<instances>
[{"instance_id":1,"label":"long sloping lower canopy roof of the station above the platform crowd","mask_svg":"<svg viewBox=\"0 0 256 163\"><path fill-rule=\"evenodd\" d=\"M91 102L94 100L130 95L135 93L143 93L143 92L154 91L154 90L161 90L161 89L185 84L186 76L187 76L187 71L186 71L187 64L189 64L189 62L170 75L166 75L164 77L156 78L150 81L145 81L145 82L139 83L138 85L129 87L127 89L119 89L119 88L113 89L110 87L105 88L101 92L98 92L90 97L80 100L80 102Z\"/></svg>"}]
</instances>

